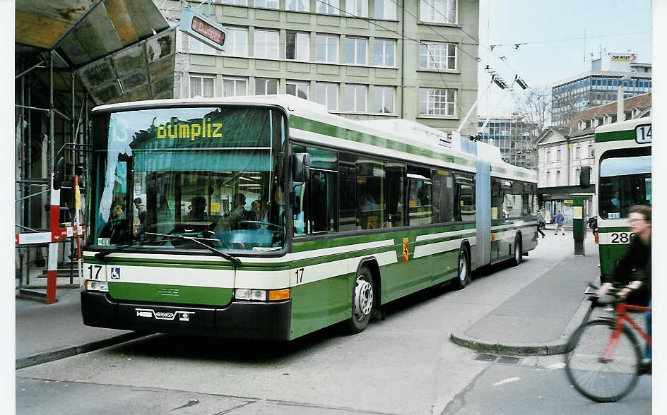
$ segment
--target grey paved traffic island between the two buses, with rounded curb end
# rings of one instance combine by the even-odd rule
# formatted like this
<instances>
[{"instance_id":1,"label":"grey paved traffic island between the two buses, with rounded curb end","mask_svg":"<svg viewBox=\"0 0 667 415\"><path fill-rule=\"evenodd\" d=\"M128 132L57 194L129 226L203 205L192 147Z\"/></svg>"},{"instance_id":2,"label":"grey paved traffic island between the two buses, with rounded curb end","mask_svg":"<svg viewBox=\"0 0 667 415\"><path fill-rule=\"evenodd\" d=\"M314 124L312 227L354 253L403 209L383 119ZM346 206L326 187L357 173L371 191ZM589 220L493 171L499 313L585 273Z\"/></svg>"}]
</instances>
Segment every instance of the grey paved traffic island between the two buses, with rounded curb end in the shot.
<instances>
[{"instance_id":1,"label":"grey paved traffic island between the two buses, with rounded curb end","mask_svg":"<svg viewBox=\"0 0 667 415\"><path fill-rule=\"evenodd\" d=\"M565 235L570 255L467 329L452 332L451 341L508 356L565 352L567 339L590 309L584 299L586 282L598 282L600 275L591 234L584 240L586 256L574 256L572 232Z\"/></svg>"}]
</instances>

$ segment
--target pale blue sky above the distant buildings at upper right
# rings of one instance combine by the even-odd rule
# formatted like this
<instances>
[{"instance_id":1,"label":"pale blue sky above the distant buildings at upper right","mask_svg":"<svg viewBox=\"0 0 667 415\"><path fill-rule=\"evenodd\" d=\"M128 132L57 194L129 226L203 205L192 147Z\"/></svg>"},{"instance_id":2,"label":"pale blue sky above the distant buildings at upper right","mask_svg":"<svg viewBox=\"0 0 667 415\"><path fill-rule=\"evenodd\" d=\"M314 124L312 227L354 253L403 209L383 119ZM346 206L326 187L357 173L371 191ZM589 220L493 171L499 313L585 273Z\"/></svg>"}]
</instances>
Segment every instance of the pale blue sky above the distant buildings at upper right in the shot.
<instances>
[{"instance_id":1,"label":"pale blue sky above the distant buildings at upper right","mask_svg":"<svg viewBox=\"0 0 667 415\"><path fill-rule=\"evenodd\" d=\"M606 52L631 49L637 61L652 62L650 0L479 0L479 6L480 94L491 79L486 64L507 83L518 74L529 87L550 89L557 80L589 71L590 54L597 59L601 47ZM490 51L490 45L497 46ZM509 115L513 107L512 95L492 85L478 114Z\"/></svg>"}]
</instances>

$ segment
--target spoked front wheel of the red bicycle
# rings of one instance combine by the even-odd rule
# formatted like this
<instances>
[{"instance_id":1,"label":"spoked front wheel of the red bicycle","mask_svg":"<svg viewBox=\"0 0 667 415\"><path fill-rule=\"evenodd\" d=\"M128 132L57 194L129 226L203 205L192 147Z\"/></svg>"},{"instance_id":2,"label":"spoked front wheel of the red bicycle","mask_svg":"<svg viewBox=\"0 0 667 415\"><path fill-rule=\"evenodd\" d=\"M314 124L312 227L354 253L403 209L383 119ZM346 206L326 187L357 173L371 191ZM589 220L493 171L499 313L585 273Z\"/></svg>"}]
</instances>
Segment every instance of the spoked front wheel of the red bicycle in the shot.
<instances>
[{"instance_id":1,"label":"spoked front wheel of the red bicycle","mask_svg":"<svg viewBox=\"0 0 667 415\"><path fill-rule=\"evenodd\" d=\"M592 320L581 325L567 344L567 378L595 402L618 401L637 384L642 359L637 338L623 327L614 342L614 329L613 320Z\"/></svg>"}]
</instances>

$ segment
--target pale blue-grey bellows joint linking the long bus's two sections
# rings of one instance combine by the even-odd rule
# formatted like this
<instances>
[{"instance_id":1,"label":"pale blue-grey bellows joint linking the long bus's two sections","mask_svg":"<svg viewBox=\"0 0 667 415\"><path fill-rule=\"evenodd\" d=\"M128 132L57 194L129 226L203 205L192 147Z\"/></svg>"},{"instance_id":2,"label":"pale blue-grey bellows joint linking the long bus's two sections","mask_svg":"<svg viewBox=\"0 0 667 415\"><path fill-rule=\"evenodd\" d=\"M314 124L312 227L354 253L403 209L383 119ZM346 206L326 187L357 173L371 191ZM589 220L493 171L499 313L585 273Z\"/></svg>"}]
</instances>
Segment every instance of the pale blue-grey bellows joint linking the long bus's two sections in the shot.
<instances>
[{"instance_id":1,"label":"pale blue-grey bellows joint linking the long bus's two sections","mask_svg":"<svg viewBox=\"0 0 667 415\"><path fill-rule=\"evenodd\" d=\"M477 244L474 263L475 267L480 267L491 262L491 167L485 160L477 160L475 197Z\"/></svg>"}]
</instances>

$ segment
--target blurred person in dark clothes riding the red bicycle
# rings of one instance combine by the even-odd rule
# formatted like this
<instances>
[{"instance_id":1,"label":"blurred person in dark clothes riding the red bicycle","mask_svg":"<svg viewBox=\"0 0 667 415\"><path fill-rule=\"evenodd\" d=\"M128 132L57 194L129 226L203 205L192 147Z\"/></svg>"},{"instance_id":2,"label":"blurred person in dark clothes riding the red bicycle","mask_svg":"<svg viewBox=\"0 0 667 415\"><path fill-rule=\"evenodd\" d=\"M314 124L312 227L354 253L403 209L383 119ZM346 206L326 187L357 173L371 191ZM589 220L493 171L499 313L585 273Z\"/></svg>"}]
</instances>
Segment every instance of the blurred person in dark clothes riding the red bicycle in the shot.
<instances>
[{"instance_id":1,"label":"blurred person in dark clothes riding the red bicycle","mask_svg":"<svg viewBox=\"0 0 667 415\"><path fill-rule=\"evenodd\" d=\"M628 215L630 219L630 230L634 237L627 246L625 253L618 260L610 281L603 282L597 295L603 296L612 287L613 282L625 284L620 292L621 298L627 298L627 303L637 306L651 306L651 207L647 205L634 205L630 208ZM634 279L632 270L637 270L638 277ZM645 313L647 322L647 333L651 335L651 311ZM641 373L651 372L651 348L644 349L644 360L642 361Z\"/></svg>"}]
</instances>

